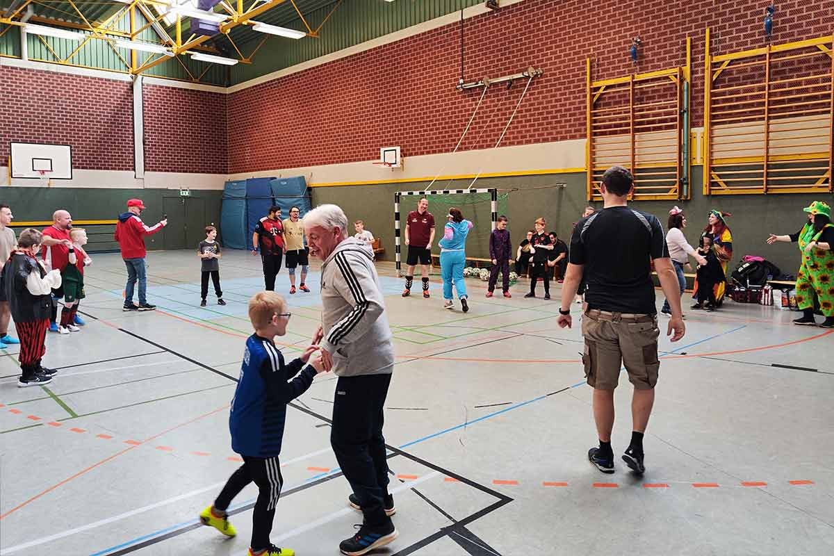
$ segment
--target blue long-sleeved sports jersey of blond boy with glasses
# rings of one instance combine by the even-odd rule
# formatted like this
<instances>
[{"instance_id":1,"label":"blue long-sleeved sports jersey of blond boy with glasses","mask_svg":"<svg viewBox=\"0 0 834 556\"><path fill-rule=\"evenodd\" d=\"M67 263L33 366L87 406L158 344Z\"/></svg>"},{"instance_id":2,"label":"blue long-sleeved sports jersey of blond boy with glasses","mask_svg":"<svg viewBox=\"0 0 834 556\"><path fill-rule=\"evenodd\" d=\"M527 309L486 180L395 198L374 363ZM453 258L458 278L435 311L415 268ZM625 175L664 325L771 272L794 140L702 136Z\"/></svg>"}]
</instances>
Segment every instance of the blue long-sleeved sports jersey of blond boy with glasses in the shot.
<instances>
[{"instance_id":1,"label":"blue long-sleeved sports jersey of blond boy with glasses","mask_svg":"<svg viewBox=\"0 0 834 556\"><path fill-rule=\"evenodd\" d=\"M229 413L236 453L253 458L274 458L281 453L287 403L306 392L316 374L312 367L299 373L303 366L301 359L284 364L284 356L271 340L257 334L247 338Z\"/></svg>"}]
</instances>

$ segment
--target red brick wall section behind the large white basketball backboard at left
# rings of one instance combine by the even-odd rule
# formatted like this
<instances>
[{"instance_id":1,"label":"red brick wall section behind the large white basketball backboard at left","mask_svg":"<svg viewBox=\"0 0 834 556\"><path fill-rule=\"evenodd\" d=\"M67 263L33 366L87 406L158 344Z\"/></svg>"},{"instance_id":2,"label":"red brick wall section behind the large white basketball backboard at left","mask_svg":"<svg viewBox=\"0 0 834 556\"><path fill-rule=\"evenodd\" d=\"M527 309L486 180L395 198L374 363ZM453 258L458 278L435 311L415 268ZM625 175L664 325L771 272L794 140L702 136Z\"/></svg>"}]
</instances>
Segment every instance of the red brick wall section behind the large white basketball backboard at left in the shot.
<instances>
[{"instance_id":1,"label":"red brick wall section behind the large white basketball backboard at left","mask_svg":"<svg viewBox=\"0 0 834 556\"><path fill-rule=\"evenodd\" d=\"M0 67L0 164L9 142L73 147L73 167L133 169L130 83Z\"/></svg>"}]
</instances>

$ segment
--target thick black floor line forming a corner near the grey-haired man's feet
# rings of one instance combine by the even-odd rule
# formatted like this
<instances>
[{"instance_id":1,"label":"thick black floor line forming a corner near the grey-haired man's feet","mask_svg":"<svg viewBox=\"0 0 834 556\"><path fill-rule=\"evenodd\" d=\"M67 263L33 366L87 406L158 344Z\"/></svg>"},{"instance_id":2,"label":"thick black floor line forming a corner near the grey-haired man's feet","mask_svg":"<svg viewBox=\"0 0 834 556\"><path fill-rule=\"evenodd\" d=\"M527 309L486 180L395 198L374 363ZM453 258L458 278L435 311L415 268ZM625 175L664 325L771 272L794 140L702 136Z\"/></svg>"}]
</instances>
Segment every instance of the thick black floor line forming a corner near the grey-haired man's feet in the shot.
<instances>
[{"instance_id":1,"label":"thick black floor line forming a corner near the grey-haired man's feet","mask_svg":"<svg viewBox=\"0 0 834 556\"><path fill-rule=\"evenodd\" d=\"M137 338L139 340L142 340L145 343L149 343L149 344L155 346L156 348L159 348L159 349L162 349L163 351L171 353L172 355L176 355L179 358L183 358L190 363L194 363L195 365L198 365L199 367L202 367L202 368L204 368L208 371L211 371L212 373L219 374L220 376L223 376L225 378L229 378L229 380L231 380L235 383L238 382L238 378L234 378L234 377L232 377L232 376L230 376L229 374L226 374L226 373L221 373L216 368L211 368L204 363L200 363L200 362L198 362L198 361L196 361L192 358L189 358L189 357L183 355L182 353L175 352L171 348L166 348L165 346L163 346L159 343L153 342L152 340L149 340L148 338L143 338L142 336L139 336L138 334L135 334L135 333L132 333L128 330L125 330L124 328L118 328L118 330L120 332L128 334L128 336L132 336L133 338ZM508 338L500 338L500 339L508 339ZM492 341L498 341L498 340L492 340ZM490 342L485 342L485 343L490 343ZM483 345L483 343L482 344L476 344L476 345ZM469 346L469 347L474 347L474 346ZM451 351L455 351L455 350L453 349ZM292 403L291 402L291 403L288 403L287 405L289 405L289 407L291 407L291 408L297 409L298 411L300 411L302 413L307 413L309 416L317 418L320 421L322 421L323 423L327 423L327 424L330 424L330 425L333 424L333 421L330 418L327 418L326 416L324 416L320 413L316 413L311 409L304 408L297 403ZM430 543L433 543L438 538L443 538L443 537L449 535L450 532L453 531L453 530L460 532L460 530L461 530L460 528L465 528L465 526L467 524L472 523L476 519L485 516L487 513L493 512L496 509L501 508L505 504L510 503L510 502L513 501L513 498L510 498L509 496L506 496L505 494L500 493L500 492L494 490L493 488L490 488L490 487L488 487L484 484L481 484L481 483L477 483L470 478L465 478L462 475L459 475L458 473L454 473L453 471L450 471L449 469L442 468L442 467L440 467L440 465L437 465L435 463L430 463L423 458L418 458L417 456L415 456L411 453L404 452L403 450L401 450L399 448L395 448L394 446L389 446L388 444L385 444L385 448L387 448L389 450L389 454L388 454L387 458L393 458L394 456L399 455L401 457L404 457L406 459L409 459L409 460L413 461L414 463L420 463L420 465L422 465L426 468L430 468L434 471L437 471L438 473L442 473L446 477L455 478L455 479L457 479L457 481L459 483L464 483L464 484L470 486L471 488L475 488L476 490L480 490L480 492L482 492L482 493L487 493L487 494L490 494L491 496L493 496L494 498L497 498L497 502L491 504L490 506L487 506L486 508L482 508L475 513L470 514L466 518L461 519L458 523L455 524L454 528L447 528L447 529L441 530L438 533L433 533L429 537L421 539L420 541L418 541L418 543L414 543L410 547L405 548L403 551L400 551L400 552L396 553L399 556L405 556L405 554L409 554L411 552L414 552L414 550L416 550L418 548L425 547L426 545L428 545ZM297 488L290 489L289 491L284 493L284 495L286 496L286 495L289 495L290 493L300 492L301 490L304 490L306 488L311 488L314 485L317 485L319 483L324 483L325 481L332 480L333 478L339 477L340 475L341 475L341 473L334 473L333 475L329 475L327 477L320 478L317 481L313 481L311 483L301 485ZM238 508L233 513L240 513L240 512L243 512L243 511L247 510L247 509L250 509L252 507L254 507L254 503L249 504L249 505L245 506L244 508ZM118 552L111 553L109 556L120 556L122 554L131 553L134 550L144 548L144 547L148 546L149 544L158 543L158 542L161 542L161 541L163 541L165 539L168 539L168 538L173 538L173 537L175 537L179 534L186 533L186 532L191 531L194 528L198 528L198 527L202 527L202 525L201 524L194 524L194 525L184 526L183 528L176 529L176 530L171 531L169 533L166 533L166 534L164 534L160 537L151 538L151 539L148 539L147 541L143 541L143 543L134 544L133 546L130 546L128 548L123 548L122 550L120 550Z\"/></svg>"}]
</instances>

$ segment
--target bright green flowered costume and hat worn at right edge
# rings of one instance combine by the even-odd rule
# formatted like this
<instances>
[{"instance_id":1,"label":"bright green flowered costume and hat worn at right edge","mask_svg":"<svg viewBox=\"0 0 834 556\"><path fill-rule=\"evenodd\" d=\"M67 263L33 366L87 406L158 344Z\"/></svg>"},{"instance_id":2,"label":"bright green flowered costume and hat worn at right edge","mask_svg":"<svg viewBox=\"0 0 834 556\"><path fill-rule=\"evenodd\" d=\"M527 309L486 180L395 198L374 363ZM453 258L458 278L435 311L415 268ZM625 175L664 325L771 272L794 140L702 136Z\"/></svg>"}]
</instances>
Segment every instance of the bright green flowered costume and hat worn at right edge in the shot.
<instances>
[{"instance_id":1,"label":"bright green flowered costume and hat worn at right edge","mask_svg":"<svg viewBox=\"0 0 834 556\"><path fill-rule=\"evenodd\" d=\"M831 209L828 205L818 201L811 203L805 212L825 214L829 218L831 216ZM796 306L801 310L812 309L816 293L822 314L826 317L834 317L834 251L831 251L831 248L812 248L806 251L809 243L819 241L826 228L834 228L834 224L826 224L819 232L816 232L812 223L806 223L799 233L798 243L802 263L799 273L796 274Z\"/></svg>"}]
</instances>

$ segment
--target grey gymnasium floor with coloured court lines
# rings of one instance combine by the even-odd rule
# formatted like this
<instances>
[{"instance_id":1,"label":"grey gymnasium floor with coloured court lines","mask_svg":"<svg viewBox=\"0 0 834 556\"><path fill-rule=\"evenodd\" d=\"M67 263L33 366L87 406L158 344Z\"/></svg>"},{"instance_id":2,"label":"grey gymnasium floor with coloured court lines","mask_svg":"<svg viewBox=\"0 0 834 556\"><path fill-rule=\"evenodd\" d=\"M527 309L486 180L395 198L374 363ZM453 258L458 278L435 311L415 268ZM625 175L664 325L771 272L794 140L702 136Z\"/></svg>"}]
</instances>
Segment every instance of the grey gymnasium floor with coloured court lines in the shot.
<instances>
[{"instance_id":1,"label":"grey gymnasium floor with coloured court lines","mask_svg":"<svg viewBox=\"0 0 834 556\"><path fill-rule=\"evenodd\" d=\"M93 260L87 326L48 335L53 383L17 388L16 358L0 357L0 553L244 556L254 488L232 507L237 538L196 517L239 465L228 404L259 258L226 251L229 304L209 293L199 308L193 252L150 253L155 313L120 310L118 254ZM464 314L441 308L439 277L430 300L404 299L393 265L379 268L397 350L385 433L399 530L379 553L834 553L834 331L759 305L687 311L686 337L661 340L646 475L619 460L604 475L586 459L591 391L578 323L555 325L558 286L550 302L522 298L525 282L488 300L468 279ZM290 357L319 324L318 277L286 296ZM286 293L284 270L278 283ZM334 379L288 409L272 538L299 555L338 553L361 521L329 448ZM623 377L616 453L630 398Z\"/></svg>"}]
</instances>

